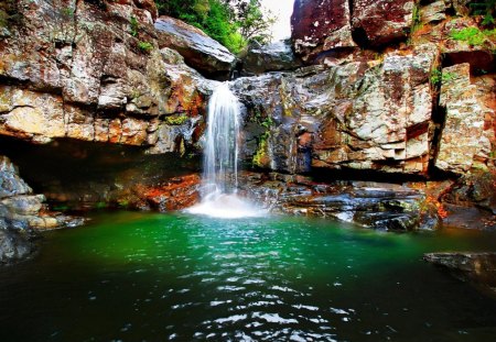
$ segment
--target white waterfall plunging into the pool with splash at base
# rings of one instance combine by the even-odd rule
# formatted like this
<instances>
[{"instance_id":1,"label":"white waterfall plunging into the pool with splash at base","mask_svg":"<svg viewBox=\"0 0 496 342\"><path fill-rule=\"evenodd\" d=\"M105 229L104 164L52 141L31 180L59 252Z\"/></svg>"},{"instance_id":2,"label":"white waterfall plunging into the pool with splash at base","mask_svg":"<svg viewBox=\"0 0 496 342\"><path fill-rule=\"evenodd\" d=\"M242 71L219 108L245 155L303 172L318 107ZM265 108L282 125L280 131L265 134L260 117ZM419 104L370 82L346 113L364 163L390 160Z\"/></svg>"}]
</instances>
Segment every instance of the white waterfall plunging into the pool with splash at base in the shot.
<instances>
[{"instance_id":1,"label":"white waterfall plunging into the pool with splash at base","mask_svg":"<svg viewBox=\"0 0 496 342\"><path fill-rule=\"evenodd\" d=\"M237 195L240 110L227 82L219 85L208 102L202 202L191 213L217 218L259 217L255 208Z\"/></svg>"}]
</instances>

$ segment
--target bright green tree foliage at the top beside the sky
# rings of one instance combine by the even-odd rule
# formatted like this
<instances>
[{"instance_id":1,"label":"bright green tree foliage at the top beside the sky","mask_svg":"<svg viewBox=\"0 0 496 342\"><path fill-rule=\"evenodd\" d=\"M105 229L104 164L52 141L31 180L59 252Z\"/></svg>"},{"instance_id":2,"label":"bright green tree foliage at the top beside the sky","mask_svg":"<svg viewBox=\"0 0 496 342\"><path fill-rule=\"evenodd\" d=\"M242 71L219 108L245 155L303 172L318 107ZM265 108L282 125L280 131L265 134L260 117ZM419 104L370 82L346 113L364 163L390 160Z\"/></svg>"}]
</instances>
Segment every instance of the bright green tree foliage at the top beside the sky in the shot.
<instances>
[{"instance_id":1,"label":"bright green tree foliage at the top beside the sky","mask_svg":"<svg viewBox=\"0 0 496 342\"><path fill-rule=\"evenodd\" d=\"M155 0L160 14L181 19L203 30L233 53L249 42L267 43L271 13L261 11L260 0Z\"/></svg>"}]
</instances>

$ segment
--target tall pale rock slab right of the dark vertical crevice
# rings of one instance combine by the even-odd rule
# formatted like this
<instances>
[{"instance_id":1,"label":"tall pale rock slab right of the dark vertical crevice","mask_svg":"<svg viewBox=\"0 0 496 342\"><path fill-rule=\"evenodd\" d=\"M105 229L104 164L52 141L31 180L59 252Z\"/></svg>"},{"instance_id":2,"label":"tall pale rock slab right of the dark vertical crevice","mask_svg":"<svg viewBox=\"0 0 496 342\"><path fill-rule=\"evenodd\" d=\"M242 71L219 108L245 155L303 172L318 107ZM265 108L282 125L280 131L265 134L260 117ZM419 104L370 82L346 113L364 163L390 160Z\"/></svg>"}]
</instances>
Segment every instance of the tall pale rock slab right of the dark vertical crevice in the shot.
<instances>
[{"instance_id":1,"label":"tall pale rock slab right of the dark vertical crevice","mask_svg":"<svg viewBox=\"0 0 496 342\"><path fill-rule=\"evenodd\" d=\"M435 166L456 174L466 173L481 148L484 115L471 84L470 65L443 68L440 106L446 110Z\"/></svg>"}]
</instances>

